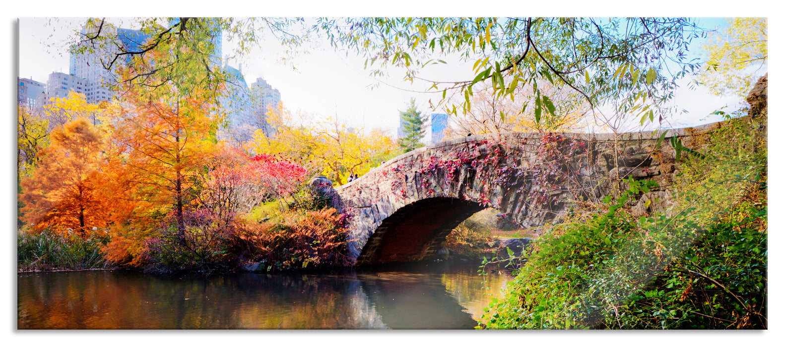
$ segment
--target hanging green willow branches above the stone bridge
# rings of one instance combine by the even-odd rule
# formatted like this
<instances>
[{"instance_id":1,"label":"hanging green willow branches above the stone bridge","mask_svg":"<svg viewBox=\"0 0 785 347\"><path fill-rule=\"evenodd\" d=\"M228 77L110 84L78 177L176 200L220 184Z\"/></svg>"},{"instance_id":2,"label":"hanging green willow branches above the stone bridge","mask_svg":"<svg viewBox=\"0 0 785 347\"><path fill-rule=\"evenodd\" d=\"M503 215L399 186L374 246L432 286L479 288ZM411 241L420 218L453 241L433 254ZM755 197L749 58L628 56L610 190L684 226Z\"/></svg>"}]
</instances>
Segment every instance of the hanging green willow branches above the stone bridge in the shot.
<instances>
[{"instance_id":1,"label":"hanging green willow branches above the stone bridge","mask_svg":"<svg viewBox=\"0 0 785 347\"><path fill-rule=\"evenodd\" d=\"M426 80L421 69L435 57L473 63L473 79L436 83L444 97L447 90L464 93L490 80L497 93L513 98L514 89L524 88L519 82L535 86L541 80L574 90L575 98L595 109L608 104L640 109L645 103L664 112L670 110L677 77L696 71L697 63L685 53L692 38L703 35L687 18L322 18L315 28L336 47L379 59L373 75L387 75L386 68L397 66L409 79ZM421 36L440 45L414 39ZM400 53L411 60L394 60ZM641 91L652 95L636 99ZM542 104L551 111L545 98L539 102L538 120ZM459 104L447 109L470 109L466 98Z\"/></svg>"}]
</instances>

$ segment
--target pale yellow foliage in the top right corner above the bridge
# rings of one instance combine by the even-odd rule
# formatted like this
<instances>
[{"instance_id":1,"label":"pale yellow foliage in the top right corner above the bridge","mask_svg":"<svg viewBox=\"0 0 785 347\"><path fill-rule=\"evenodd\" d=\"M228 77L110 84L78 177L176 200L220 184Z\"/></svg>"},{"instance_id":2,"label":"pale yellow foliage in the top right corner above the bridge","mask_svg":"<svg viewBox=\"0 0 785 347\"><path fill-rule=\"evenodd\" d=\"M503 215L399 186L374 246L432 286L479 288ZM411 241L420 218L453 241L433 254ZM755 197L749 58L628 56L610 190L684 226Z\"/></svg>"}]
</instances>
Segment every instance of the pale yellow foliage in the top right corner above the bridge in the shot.
<instances>
[{"instance_id":1,"label":"pale yellow foliage in the top right corner above the bridge","mask_svg":"<svg viewBox=\"0 0 785 347\"><path fill-rule=\"evenodd\" d=\"M728 27L710 35L703 45L705 68L697 81L717 95L747 96L752 83L765 72L769 59L766 18L730 18Z\"/></svg>"}]
</instances>

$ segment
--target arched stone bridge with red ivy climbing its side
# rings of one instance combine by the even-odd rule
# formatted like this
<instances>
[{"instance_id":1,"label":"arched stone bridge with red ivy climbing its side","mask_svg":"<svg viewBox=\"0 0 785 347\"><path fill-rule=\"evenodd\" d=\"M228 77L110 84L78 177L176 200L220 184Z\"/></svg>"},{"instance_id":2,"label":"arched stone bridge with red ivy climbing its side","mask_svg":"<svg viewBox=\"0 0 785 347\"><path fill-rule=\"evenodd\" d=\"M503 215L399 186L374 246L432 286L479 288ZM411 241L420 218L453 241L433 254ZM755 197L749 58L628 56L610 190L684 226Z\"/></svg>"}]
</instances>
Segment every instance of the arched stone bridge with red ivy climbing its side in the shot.
<instances>
[{"instance_id":1,"label":"arched stone bridge with red ivy climbing its side","mask_svg":"<svg viewBox=\"0 0 785 347\"><path fill-rule=\"evenodd\" d=\"M472 214L492 207L520 228L547 228L581 201L600 201L621 178L659 188L630 199L633 214L663 210L677 174L671 137L700 152L717 122L652 132L501 133L445 141L399 155L334 188L348 214L349 256L356 265L422 261ZM682 152L685 154L684 152Z\"/></svg>"}]
</instances>

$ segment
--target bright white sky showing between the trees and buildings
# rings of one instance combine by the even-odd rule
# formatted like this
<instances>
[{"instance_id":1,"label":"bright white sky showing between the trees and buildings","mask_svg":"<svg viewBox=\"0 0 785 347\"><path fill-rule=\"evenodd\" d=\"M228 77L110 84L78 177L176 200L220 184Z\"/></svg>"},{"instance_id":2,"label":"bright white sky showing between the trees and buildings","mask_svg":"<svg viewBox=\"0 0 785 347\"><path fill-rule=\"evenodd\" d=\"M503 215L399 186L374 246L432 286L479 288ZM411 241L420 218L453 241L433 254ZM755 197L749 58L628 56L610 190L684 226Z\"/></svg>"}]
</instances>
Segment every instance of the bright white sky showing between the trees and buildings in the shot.
<instances>
[{"instance_id":1,"label":"bright white sky showing between the trees and buildings","mask_svg":"<svg viewBox=\"0 0 785 347\"><path fill-rule=\"evenodd\" d=\"M68 35L79 31L84 20L84 17L60 17L58 20L20 18L19 76L46 83L49 73L53 71L68 73L68 53L64 45ZM707 19L702 24L715 27L723 22ZM131 27L128 21L120 25ZM434 104L440 100L440 93L404 90L425 90L427 85L412 86L409 82L403 82L401 71L393 72L389 79L378 83L368 76L367 71L363 71L363 59L336 53L327 42L319 42L321 47L294 57L291 64L298 68L294 71L291 65L280 63L283 49L279 43L271 35L265 35L265 38L268 38L267 42L260 49L255 49L254 53L241 60L243 75L249 85L257 77L267 80L279 89L283 103L292 111L301 110L317 117L338 115L347 126L393 130L399 124L399 110L406 107L411 97L417 100L424 114L430 112L429 100ZM697 52L698 47L698 42L693 43L694 52ZM224 55L232 48L225 42ZM457 64L458 60L448 60L448 63L447 66L439 65L430 74L440 80L473 78L470 63ZM230 64L239 67L238 61L231 61ZM372 84L378 84L378 87L369 88ZM681 84L686 85L686 82ZM682 88L677 93L676 103L689 114L673 119L672 124L695 126L720 120L719 116L708 115L726 104L736 104L736 101L733 98L713 97L701 88ZM391 131L390 134L394 133Z\"/></svg>"}]
</instances>

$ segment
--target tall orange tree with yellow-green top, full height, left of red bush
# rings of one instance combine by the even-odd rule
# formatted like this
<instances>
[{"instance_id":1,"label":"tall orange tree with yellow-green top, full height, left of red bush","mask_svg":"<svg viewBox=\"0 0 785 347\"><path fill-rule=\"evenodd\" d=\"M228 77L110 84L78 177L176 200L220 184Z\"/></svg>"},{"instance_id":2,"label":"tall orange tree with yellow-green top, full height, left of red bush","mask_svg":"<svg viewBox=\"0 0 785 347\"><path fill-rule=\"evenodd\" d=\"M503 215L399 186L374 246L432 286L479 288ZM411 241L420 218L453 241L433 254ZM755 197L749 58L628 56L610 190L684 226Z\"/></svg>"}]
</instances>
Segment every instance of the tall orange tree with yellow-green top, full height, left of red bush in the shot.
<instances>
[{"instance_id":1,"label":"tall orange tree with yellow-green top, full height, left of red bush","mask_svg":"<svg viewBox=\"0 0 785 347\"><path fill-rule=\"evenodd\" d=\"M188 23L181 29L195 22ZM199 58L212 45L167 35L119 69L124 110L108 121L107 170L118 216L107 247L110 259L138 261L145 244L164 234L186 243L188 216L199 207L200 179L224 117L215 102L221 74L203 79L206 71L220 68Z\"/></svg>"}]
</instances>

